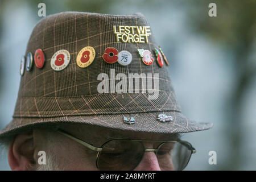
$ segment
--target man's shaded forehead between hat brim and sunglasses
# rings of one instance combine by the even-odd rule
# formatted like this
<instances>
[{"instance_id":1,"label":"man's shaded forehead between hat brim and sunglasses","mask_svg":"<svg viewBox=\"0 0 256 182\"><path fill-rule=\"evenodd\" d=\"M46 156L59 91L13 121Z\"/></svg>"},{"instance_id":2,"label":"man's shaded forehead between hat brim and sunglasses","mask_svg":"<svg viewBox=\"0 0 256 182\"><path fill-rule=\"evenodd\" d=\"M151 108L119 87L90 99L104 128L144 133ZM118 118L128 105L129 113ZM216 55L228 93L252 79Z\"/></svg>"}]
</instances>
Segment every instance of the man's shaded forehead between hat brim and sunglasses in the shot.
<instances>
[{"instance_id":1,"label":"man's shaded forehead between hat brim and sunglasses","mask_svg":"<svg viewBox=\"0 0 256 182\"><path fill-rule=\"evenodd\" d=\"M83 125L83 124L65 124L60 126L60 128L74 135L75 137L83 139L88 142L89 141L90 142L94 142L94 141L106 142L110 139L119 139L119 138L130 138L130 139L141 139L141 140L176 140L179 137L178 134L159 134L159 133L117 130L117 129L109 129L106 127Z\"/></svg>"}]
</instances>

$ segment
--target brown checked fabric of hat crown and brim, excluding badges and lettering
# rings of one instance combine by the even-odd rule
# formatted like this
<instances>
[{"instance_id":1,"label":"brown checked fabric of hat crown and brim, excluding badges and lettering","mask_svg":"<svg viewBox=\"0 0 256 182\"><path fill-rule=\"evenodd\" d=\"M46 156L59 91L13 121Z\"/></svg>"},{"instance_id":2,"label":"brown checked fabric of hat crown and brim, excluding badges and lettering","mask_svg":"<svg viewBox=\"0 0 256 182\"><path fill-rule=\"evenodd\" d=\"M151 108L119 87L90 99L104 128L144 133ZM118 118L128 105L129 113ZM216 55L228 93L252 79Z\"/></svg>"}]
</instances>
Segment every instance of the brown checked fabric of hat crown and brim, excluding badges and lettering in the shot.
<instances>
[{"instance_id":1,"label":"brown checked fabric of hat crown and brim, excluding badges and lettering","mask_svg":"<svg viewBox=\"0 0 256 182\"><path fill-rule=\"evenodd\" d=\"M25 71L21 77L13 120L0 132L0 137L63 122L154 133L187 133L212 127L212 123L196 123L181 114L167 65L161 68L156 63L154 49L159 45L155 43L152 32L148 43L123 43L117 42L113 26L149 24L142 14L65 12L40 20L32 31L26 55L40 48L46 56L46 63L42 69L33 64L31 71ZM96 57L88 67L80 68L76 57L86 46L95 49ZM129 51L133 56L131 64L106 63L102 55L108 47ZM62 71L54 71L50 65L51 57L60 49L69 51L71 61ZM138 49L149 50L154 63L150 66L143 64ZM139 83L139 93L98 93L97 86L101 81L97 76L100 73L110 75L110 69L114 69L116 75L158 73L159 97L148 99L148 93L143 92L146 89L143 80ZM117 84L117 80L114 81ZM174 121L162 123L157 120L158 114L172 115ZM135 124L124 123L124 116L134 117Z\"/></svg>"}]
</instances>

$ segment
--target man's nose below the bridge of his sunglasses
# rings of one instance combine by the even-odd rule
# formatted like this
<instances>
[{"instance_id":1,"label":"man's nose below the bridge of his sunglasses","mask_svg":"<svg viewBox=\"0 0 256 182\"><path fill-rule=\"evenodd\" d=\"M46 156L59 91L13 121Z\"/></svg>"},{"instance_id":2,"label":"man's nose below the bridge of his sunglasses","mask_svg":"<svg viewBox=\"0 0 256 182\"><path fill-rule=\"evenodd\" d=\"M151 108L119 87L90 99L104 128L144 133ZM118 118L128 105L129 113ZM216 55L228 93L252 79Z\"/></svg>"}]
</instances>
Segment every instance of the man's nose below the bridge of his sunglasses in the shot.
<instances>
[{"instance_id":1,"label":"man's nose below the bridge of his sunglasses","mask_svg":"<svg viewBox=\"0 0 256 182\"><path fill-rule=\"evenodd\" d=\"M161 171L158 164L158 158L154 152L145 152L139 165L134 169L135 171Z\"/></svg>"}]
</instances>

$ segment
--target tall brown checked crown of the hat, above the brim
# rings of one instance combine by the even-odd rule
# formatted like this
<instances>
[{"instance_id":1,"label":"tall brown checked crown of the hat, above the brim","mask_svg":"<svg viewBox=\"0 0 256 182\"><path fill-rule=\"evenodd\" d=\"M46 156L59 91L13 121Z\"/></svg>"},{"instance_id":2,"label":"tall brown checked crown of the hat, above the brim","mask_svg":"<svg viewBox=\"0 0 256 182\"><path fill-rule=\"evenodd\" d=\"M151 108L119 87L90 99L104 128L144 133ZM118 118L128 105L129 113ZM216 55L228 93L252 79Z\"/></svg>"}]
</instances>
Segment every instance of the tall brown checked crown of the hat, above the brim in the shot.
<instances>
[{"instance_id":1,"label":"tall brown checked crown of the hat, above the brim","mask_svg":"<svg viewBox=\"0 0 256 182\"><path fill-rule=\"evenodd\" d=\"M123 39L117 35L122 33L126 34ZM126 36L130 38L127 42ZM94 48L95 58L88 67L80 68L77 55L88 46ZM133 57L131 63L126 66L106 63L102 55L108 47L118 52L129 51ZM46 62L41 69L33 64L32 69L22 76L14 117L180 111L167 65L159 67L156 63L155 48L159 49L158 44L142 14L65 12L47 16L35 26L26 51L27 55L42 49ZM51 67L51 58L63 49L70 53L70 62L65 69L55 71ZM150 51L154 62L143 64L138 49ZM104 93L98 89L102 74L104 79L109 79L105 85L108 92ZM137 87L135 79L129 82L132 74L140 77ZM122 86L118 85L121 80L126 80ZM148 99L154 92L159 93L158 97Z\"/></svg>"}]
</instances>

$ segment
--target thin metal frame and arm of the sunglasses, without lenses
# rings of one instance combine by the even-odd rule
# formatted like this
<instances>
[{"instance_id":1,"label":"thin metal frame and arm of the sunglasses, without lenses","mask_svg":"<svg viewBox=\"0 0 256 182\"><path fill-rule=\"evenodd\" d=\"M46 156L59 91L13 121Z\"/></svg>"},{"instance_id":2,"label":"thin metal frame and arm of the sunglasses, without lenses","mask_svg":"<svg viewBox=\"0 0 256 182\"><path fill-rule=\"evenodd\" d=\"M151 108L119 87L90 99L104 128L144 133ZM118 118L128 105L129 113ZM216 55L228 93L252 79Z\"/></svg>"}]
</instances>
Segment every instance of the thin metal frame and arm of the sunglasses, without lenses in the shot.
<instances>
[{"instance_id":1,"label":"thin metal frame and arm of the sunglasses, without lenses","mask_svg":"<svg viewBox=\"0 0 256 182\"><path fill-rule=\"evenodd\" d=\"M196 153L196 149L192 146L192 144L187 142L187 141L184 141L184 140L137 140L137 139L121 138L121 139L108 140L107 142L103 143L101 145L101 147L94 147L92 144L86 143L86 142L84 142L83 140L81 140L79 138L73 137L71 134L68 134L67 132L65 132L63 130L57 129L57 132L59 132L60 134L65 135L68 138L71 138L72 140L75 140L76 142L82 144L82 146L85 146L85 147L89 148L90 150L96 151L97 152L97 156L96 156L96 167L97 167L97 169L100 169L98 167L98 159L99 159L100 153L102 151L102 148L104 147L104 145L106 143L108 143L108 142L110 142L112 140L131 140L131 141L137 141L137 142L163 142L163 143L160 143L157 148L144 148L144 152L155 152L155 154L156 154L156 152L158 152L159 147L162 146L162 144L164 144L164 143L167 143L167 142L180 142L181 144L184 144L185 146L187 146L189 148L189 150L191 150L191 155ZM189 156L188 162L189 162L189 160L191 158L191 155ZM187 162L187 164L188 164L188 162ZM187 164L186 164L186 166L187 166Z\"/></svg>"}]
</instances>

